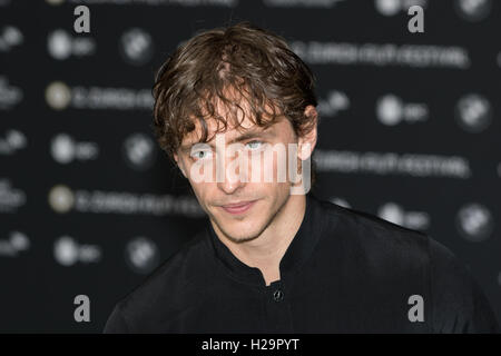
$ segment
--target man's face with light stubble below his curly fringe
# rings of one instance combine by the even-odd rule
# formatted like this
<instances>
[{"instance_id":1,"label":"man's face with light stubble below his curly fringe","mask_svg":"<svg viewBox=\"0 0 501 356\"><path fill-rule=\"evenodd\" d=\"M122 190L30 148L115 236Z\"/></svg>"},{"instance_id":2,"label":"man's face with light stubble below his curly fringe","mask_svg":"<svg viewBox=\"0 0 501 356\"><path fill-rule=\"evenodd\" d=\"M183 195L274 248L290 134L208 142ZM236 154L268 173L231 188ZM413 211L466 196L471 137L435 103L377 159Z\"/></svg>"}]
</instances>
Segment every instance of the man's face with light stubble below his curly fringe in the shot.
<instances>
[{"instance_id":1,"label":"man's face with light stubble below his curly fringe","mask_svg":"<svg viewBox=\"0 0 501 356\"><path fill-rule=\"evenodd\" d=\"M286 118L264 129L246 116L239 127L228 126L217 136L213 135L216 121L207 121L207 127L213 139L199 144L197 123L195 131L184 138L176 161L215 229L235 243L254 239L288 201L288 171L296 167L291 162L297 165L305 159L301 157L305 139L296 137ZM297 151L289 144L296 145Z\"/></svg>"}]
</instances>

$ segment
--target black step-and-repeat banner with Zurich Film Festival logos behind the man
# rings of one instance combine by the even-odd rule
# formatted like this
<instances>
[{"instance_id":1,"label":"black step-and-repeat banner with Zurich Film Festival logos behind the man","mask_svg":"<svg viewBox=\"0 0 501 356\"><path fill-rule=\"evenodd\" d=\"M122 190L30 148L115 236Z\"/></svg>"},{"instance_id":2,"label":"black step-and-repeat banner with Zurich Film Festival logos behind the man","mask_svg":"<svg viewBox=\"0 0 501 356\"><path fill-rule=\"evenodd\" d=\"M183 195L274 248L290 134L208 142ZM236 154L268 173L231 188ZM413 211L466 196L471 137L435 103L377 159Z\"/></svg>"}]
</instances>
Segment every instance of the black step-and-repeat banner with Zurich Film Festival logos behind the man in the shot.
<instances>
[{"instance_id":1,"label":"black step-and-repeat banner with Zurich Film Festival logos behind the man","mask_svg":"<svg viewBox=\"0 0 501 356\"><path fill-rule=\"evenodd\" d=\"M203 227L150 89L240 20L317 78L315 194L448 246L501 319L499 1L0 0L0 330L100 333Z\"/></svg>"}]
</instances>

